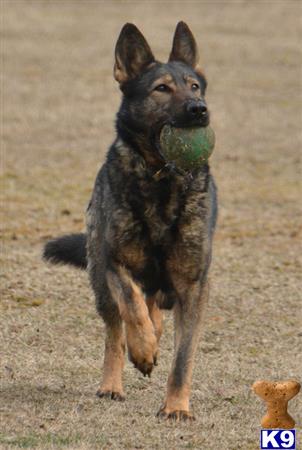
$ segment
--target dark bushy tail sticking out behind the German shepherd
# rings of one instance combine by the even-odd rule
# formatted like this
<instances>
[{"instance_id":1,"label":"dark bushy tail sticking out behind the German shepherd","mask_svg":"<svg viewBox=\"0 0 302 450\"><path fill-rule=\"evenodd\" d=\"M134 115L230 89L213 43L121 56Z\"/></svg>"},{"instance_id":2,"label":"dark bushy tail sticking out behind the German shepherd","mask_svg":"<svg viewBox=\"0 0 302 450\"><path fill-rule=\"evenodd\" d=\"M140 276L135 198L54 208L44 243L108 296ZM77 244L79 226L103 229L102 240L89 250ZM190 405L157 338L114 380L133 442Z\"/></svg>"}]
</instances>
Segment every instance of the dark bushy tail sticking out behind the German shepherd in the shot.
<instances>
[{"instance_id":1,"label":"dark bushy tail sticking out behind the German shepherd","mask_svg":"<svg viewBox=\"0 0 302 450\"><path fill-rule=\"evenodd\" d=\"M53 264L71 264L86 269L86 234L69 234L48 241L43 250L43 258Z\"/></svg>"}]
</instances>

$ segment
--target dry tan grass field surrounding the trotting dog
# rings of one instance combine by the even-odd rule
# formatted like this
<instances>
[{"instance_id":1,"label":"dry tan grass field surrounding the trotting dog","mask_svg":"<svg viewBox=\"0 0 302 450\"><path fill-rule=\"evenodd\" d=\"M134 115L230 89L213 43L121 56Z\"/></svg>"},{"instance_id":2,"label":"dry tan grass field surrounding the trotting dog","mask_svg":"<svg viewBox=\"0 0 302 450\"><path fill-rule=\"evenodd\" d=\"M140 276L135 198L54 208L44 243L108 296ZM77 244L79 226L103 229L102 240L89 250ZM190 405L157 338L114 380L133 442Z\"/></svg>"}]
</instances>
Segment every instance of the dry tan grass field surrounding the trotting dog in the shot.
<instances>
[{"instance_id":1,"label":"dry tan grass field surrounding the trotting dog","mask_svg":"<svg viewBox=\"0 0 302 450\"><path fill-rule=\"evenodd\" d=\"M1 449L259 448L252 383L302 378L301 5L2 0ZM100 400L104 333L87 276L40 258L49 237L84 228L114 138L120 28L136 23L165 60L179 20L209 80L220 204L192 424L155 417L170 315L152 378L127 362L126 402ZM302 394L289 410L300 433Z\"/></svg>"}]
</instances>

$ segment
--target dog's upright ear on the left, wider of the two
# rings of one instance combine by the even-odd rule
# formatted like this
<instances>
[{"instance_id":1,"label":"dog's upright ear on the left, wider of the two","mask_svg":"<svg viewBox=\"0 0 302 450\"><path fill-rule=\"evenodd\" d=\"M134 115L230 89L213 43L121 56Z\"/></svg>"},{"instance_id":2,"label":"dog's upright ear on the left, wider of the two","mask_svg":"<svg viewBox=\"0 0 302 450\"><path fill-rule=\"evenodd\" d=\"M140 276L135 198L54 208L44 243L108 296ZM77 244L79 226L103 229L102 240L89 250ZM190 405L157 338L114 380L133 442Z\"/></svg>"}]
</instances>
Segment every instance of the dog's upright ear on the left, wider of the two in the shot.
<instances>
[{"instance_id":1,"label":"dog's upright ear on the left, wider of the two","mask_svg":"<svg viewBox=\"0 0 302 450\"><path fill-rule=\"evenodd\" d=\"M132 23L126 23L115 47L114 78L120 84L135 78L154 62L152 51L142 33Z\"/></svg>"}]
</instances>

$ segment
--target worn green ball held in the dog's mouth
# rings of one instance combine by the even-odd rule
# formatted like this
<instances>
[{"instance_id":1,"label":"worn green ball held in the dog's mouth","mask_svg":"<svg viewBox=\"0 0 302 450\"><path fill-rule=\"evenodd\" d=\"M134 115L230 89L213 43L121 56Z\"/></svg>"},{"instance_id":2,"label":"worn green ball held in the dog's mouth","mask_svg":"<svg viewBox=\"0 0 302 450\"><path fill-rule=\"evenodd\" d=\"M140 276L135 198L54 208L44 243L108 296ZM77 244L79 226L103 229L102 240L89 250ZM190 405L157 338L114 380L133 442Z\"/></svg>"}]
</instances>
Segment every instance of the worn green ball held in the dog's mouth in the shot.
<instances>
[{"instance_id":1,"label":"worn green ball held in the dog's mouth","mask_svg":"<svg viewBox=\"0 0 302 450\"><path fill-rule=\"evenodd\" d=\"M204 165L215 145L211 127L175 128L165 125L160 134L161 152L165 160L179 169L190 171Z\"/></svg>"}]
</instances>

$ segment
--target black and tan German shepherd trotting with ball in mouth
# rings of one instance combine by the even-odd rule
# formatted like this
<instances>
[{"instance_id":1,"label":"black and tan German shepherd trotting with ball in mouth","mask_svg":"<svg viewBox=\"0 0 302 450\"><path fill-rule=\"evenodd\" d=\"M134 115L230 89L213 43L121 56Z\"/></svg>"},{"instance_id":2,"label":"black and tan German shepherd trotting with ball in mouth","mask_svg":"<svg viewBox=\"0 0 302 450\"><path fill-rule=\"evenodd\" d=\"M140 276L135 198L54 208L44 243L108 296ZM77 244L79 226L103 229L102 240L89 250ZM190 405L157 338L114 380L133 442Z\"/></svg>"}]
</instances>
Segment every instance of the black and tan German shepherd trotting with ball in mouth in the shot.
<instances>
[{"instance_id":1,"label":"black and tan German shepherd trotting with ball in mouth","mask_svg":"<svg viewBox=\"0 0 302 450\"><path fill-rule=\"evenodd\" d=\"M194 419L189 410L194 356L216 223L215 183L208 164L182 172L161 155L164 125L205 127L206 79L195 39L179 22L167 63L126 24L115 49L114 77L122 91L116 139L100 169L87 209L87 233L54 239L44 258L88 269L106 325L99 397L123 400L127 344L144 375L157 364L162 309L174 311L175 355L158 415Z\"/></svg>"}]
</instances>

